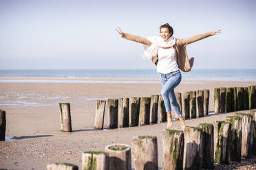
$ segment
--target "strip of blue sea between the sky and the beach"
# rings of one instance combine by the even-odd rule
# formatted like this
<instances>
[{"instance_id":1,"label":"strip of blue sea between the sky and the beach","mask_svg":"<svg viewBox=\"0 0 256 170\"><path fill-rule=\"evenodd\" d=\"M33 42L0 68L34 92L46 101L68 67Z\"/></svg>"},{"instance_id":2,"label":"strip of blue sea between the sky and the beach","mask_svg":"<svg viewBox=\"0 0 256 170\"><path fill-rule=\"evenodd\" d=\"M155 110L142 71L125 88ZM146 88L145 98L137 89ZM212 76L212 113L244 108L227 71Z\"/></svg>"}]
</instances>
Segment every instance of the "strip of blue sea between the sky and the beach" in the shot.
<instances>
[{"instance_id":1,"label":"strip of blue sea between the sky and the beach","mask_svg":"<svg viewBox=\"0 0 256 170\"><path fill-rule=\"evenodd\" d=\"M181 71L182 72L182 71ZM87 77L158 79L156 69L2 69L0 77ZM256 69L192 69L184 80L256 80Z\"/></svg>"}]
</instances>

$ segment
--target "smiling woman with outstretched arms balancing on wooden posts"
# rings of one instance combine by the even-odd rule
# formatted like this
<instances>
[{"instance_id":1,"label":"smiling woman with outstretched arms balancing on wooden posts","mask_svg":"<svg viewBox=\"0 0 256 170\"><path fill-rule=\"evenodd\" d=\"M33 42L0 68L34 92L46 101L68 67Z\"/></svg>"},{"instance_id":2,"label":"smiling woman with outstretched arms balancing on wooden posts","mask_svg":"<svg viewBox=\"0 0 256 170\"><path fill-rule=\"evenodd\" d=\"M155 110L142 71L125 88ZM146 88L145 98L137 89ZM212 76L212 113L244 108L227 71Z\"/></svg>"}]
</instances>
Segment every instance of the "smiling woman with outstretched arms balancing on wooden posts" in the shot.
<instances>
[{"instance_id":1,"label":"smiling woman with outstretched arms balancing on wooden posts","mask_svg":"<svg viewBox=\"0 0 256 170\"><path fill-rule=\"evenodd\" d=\"M157 71L160 74L162 83L161 95L167 111L167 128L170 128L172 125L171 106L173 106L173 110L177 114L184 130L184 118L175 97L174 88L181 81L180 69L187 72L191 71L193 66L194 58L189 60L186 54L186 45L209 36L217 35L221 30L217 29L214 32L198 34L184 39L173 38L173 28L168 23L160 26L160 36L149 38L124 33L119 27L116 31L122 35L122 38L144 44L145 51L143 56L150 58L157 65Z\"/></svg>"}]
</instances>

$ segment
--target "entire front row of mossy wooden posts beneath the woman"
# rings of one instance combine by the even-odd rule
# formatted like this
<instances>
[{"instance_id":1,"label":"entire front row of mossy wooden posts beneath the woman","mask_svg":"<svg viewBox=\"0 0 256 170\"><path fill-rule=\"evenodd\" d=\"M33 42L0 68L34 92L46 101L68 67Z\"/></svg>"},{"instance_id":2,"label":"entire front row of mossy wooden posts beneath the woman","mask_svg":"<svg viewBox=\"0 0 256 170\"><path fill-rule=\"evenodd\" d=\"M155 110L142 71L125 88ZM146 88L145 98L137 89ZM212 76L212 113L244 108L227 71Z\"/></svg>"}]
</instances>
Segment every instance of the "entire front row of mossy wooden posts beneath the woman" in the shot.
<instances>
[{"instance_id":1,"label":"entire front row of mossy wooden posts beneath the woman","mask_svg":"<svg viewBox=\"0 0 256 170\"><path fill-rule=\"evenodd\" d=\"M203 123L198 127L164 130L162 135L164 170L214 169L214 163L256 156L256 110L236 113L226 121ZM156 136L136 136L131 147L112 144L105 151L83 152L82 169L97 170L158 170L158 143ZM61 166L63 169L61 169ZM78 169L76 165L52 164L47 170Z\"/></svg>"}]
</instances>

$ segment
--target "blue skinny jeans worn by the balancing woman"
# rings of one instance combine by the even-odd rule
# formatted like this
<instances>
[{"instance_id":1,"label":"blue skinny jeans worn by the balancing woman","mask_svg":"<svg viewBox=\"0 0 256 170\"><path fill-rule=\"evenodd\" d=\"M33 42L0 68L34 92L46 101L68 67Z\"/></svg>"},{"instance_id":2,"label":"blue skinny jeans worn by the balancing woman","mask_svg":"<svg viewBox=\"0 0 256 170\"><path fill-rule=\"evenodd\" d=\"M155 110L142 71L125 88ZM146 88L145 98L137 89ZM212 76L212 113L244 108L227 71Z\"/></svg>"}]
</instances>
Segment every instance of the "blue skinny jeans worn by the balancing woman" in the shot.
<instances>
[{"instance_id":1,"label":"blue skinny jeans worn by the balancing woman","mask_svg":"<svg viewBox=\"0 0 256 170\"><path fill-rule=\"evenodd\" d=\"M164 99L164 106L167 112L171 112L171 106L173 106L173 110L177 114L177 116L182 115L180 111L180 106L175 97L174 88L180 84L182 75L180 70L173 71L168 74L160 73L162 90L161 95Z\"/></svg>"}]
</instances>

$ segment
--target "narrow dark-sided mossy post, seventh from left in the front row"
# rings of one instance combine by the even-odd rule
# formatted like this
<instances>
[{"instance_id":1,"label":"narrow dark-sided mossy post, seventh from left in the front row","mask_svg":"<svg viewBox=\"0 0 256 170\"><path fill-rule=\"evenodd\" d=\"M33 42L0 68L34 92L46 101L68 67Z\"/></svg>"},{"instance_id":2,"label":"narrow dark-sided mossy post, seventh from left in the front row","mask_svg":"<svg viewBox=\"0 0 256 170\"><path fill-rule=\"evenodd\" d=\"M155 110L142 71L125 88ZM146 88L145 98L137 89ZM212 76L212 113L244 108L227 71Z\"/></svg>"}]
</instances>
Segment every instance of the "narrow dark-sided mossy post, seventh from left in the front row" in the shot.
<instances>
[{"instance_id":1,"label":"narrow dark-sided mossy post, seventh from left in the front row","mask_svg":"<svg viewBox=\"0 0 256 170\"><path fill-rule=\"evenodd\" d=\"M202 128L202 168L214 169L214 125L201 123Z\"/></svg>"}]
</instances>

